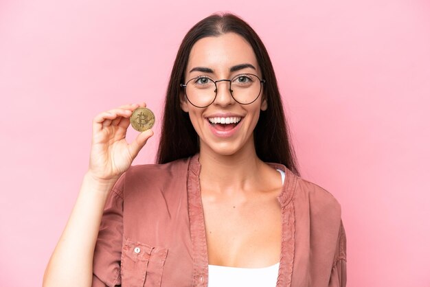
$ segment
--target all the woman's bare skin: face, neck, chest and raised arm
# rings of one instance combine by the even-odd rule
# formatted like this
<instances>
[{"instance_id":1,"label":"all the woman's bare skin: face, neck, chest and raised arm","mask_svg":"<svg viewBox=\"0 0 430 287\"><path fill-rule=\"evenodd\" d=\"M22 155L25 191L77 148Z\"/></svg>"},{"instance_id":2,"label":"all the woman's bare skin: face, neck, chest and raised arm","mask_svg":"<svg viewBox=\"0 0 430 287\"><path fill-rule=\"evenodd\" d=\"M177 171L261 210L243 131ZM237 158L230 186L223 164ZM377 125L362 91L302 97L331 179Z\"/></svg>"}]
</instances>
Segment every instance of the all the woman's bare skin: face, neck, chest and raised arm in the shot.
<instances>
[{"instance_id":1,"label":"all the woman's bare skin: face, neck, chest and raised arm","mask_svg":"<svg viewBox=\"0 0 430 287\"><path fill-rule=\"evenodd\" d=\"M231 73L234 65L249 63ZM195 65L210 67L216 80L236 73L261 76L249 44L236 34L199 40L192 48L185 78ZM199 72L201 73L201 72ZM195 75L198 76L198 75ZM219 85L216 101L196 108L182 97L181 108L199 134L201 193L205 216L209 263L223 266L264 267L280 260L281 211L277 200L282 188L280 174L258 159L253 129L267 103L241 105ZM152 137L152 130L126 142L132 111L145 104L127 104L104 111L93 119L89 168L65 230L47 264L43 286L91 286L93 253L106 199L113 185ZM240 115L240 128L231 137L219 138L209 130L207 115Z\"/></svg>"}]
</instances>

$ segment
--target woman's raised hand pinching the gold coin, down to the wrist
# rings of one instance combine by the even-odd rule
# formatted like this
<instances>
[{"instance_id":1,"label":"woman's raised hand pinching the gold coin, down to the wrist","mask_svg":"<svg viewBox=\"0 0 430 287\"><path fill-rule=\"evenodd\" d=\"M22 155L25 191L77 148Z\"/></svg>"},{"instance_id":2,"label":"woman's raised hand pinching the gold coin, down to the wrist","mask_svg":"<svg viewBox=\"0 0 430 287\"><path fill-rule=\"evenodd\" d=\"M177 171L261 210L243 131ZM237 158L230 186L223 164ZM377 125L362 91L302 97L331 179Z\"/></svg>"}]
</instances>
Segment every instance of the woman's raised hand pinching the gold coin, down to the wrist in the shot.
<instances>
[{"instance_id":1,"label":"woman's raised hand pinching the gold coin, down to the wrist","mask_svg":"<svg viewBox=\"0 0 430 287\"><path fill-rule=\"evenodd\" d=\"M140 106L146 106L142 104ZM131 113L138 104L127 104L97 115L93 120L93 136L89 160L89 174L100 181L120 178L146 141L154 135L145 130L131 143L126 141Z\"/></svg>"}]
</instances>

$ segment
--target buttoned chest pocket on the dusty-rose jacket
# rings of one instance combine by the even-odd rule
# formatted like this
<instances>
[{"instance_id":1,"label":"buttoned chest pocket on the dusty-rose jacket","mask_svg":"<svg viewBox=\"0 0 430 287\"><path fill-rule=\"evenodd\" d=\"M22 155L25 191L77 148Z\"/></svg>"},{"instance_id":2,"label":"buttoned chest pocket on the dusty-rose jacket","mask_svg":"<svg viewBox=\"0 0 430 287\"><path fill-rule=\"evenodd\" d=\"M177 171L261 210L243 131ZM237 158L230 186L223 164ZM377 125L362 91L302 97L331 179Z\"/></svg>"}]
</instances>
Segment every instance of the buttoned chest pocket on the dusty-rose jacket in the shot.
<instances>
[{"instance_id":1,"label":"buttoned chest pocket on the dusty-rose jacket","mask_svg":"<svg viewBox=\"0 0 430 287\"><path fill-rule=\"evenodd\" d=\"M122 286L161 286L167 248L152 247L126 238L121 255Z\"/></svg>"}]
</instances>

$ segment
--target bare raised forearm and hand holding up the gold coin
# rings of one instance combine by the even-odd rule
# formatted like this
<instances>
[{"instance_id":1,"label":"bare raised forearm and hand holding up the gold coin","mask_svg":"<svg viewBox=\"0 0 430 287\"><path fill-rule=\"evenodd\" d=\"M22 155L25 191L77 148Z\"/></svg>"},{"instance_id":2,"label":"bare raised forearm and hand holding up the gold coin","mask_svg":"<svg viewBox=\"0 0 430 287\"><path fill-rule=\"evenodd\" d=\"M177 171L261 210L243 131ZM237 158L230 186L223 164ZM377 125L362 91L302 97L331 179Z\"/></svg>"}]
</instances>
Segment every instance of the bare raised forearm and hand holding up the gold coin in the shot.
<instances>
[{"instance_id":1,"label":"bare raised forearm and hand holding up the gold coin","mask_svg":"<svg viewBox=\"0 0 430 287\"><path fill-rule=\"evenodd\" d=\"M94 246L106 199L117 179L154 135L152 130L146 130L132 143L126 142L131 113L138 107L138 104L127 104L94 118L89 171L47 265L44 287L91 286Z\"/></svg>"}]
</instances>

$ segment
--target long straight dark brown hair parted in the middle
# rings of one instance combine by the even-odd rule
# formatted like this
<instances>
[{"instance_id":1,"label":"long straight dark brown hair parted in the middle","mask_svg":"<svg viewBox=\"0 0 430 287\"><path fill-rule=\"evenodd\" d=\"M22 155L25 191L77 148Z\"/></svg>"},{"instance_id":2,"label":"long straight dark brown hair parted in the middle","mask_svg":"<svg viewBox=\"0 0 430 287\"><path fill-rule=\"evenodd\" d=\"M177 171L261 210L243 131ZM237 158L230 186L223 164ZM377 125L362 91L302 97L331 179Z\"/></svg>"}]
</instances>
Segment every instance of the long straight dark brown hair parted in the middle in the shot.
<instances>
[{"instance_id":1,"label":"long straight dark brown hair parted in the middle","mask_svg":"<svg viewBox=\"0 0 430 287\"><path fill-rule=\"evenodd\" d=\"M251 45L261 68L262 78L266 80L264 96L267 98L267 110L260 112L260 119L253 133L257 156L262 161L282 163L299 175L269 54L256 32L238 16L229 13L208 16L194 25L183 38L168 84L157 163L168 163L199 152L199 137L188 113L181 109L180 84L184 81L185 68L194 43L201 38L228 32L242 36Z\"/></svg>"}]
</instances>

